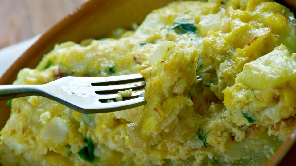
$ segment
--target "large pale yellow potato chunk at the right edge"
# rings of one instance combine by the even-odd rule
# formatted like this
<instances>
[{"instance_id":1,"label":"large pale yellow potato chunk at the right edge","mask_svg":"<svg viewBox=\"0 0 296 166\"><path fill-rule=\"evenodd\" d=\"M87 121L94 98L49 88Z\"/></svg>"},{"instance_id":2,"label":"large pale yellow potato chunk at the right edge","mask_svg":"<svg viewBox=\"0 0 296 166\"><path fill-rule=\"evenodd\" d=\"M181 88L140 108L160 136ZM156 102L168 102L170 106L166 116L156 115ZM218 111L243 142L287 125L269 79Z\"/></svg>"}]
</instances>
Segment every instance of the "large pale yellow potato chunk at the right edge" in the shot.
<instances>
[{"instance_id":1,"label":"large pale yellow potato chunk at the right edge","mask_svg":"<svg viewBox=\"0 0 296 166\"><path fill-rule=\"evenodd\" d=\"M236 80L251 89L274 88L293 79L296 79L296 61L284 45L246 63L243 71L236 77Z\"/></svg>"}]
</instances>

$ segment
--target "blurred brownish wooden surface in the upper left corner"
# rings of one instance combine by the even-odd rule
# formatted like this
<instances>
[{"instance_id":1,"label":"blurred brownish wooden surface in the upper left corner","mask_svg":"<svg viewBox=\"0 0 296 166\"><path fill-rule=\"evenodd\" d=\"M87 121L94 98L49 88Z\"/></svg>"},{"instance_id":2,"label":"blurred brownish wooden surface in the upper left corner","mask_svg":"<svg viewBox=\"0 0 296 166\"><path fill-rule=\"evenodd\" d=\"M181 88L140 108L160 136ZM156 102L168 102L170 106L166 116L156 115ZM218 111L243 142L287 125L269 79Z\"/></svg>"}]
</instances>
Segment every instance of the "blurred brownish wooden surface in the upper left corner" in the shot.
<instances>
[{"instance_id":1,"label":"blurred brownish wooden surface in the upper left corner","mask_svg":"<svg viewBox=\"0 0 296 166\"><path fill-rule=\"evenodd\" d=\"M45 32L87 0L0 0L0 49Z\"/></svg>"}]
</instances>

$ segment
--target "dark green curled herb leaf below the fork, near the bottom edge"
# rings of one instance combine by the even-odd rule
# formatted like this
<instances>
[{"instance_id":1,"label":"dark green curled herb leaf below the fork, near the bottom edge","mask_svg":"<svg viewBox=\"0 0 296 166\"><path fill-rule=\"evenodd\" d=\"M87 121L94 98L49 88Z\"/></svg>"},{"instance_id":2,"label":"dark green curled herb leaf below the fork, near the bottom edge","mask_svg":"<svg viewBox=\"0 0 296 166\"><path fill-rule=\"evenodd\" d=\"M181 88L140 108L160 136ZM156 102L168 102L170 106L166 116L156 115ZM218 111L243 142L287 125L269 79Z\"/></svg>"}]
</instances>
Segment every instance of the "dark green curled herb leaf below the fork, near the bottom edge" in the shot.
<instances>
[{"instance_id":1,"label":"dark green curled herb leaf below the fork, near the bottom edge","mask_svg":"<svg viewBox=\"0 0 296 166\"><path fill-rule=\"evenodd\" d=\"M84 142L87 143L87 146L82 148L79 152L78 155L85 161L93 162L95 160L95 156L93 154L95 147L93 146L93 143L91 140L88 138L83 139Z\"/></svg>"}]
</instances>

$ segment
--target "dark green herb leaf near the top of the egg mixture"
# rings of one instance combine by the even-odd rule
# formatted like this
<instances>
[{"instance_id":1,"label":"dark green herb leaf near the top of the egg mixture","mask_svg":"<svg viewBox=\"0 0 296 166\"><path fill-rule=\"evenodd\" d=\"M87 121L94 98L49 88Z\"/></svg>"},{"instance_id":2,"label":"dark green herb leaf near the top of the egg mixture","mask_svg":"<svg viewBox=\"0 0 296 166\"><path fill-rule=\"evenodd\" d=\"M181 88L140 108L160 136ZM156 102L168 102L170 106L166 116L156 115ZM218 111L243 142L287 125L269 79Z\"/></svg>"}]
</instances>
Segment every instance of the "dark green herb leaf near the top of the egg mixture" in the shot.
<instances>
[{"instance_id":1,"label":"dark green herb leaf near the top of the egg mixture","mask_svg":"<svg viewBox=\"0 0 296 166\"><path fill-rule=\"evenodd\" d=\"M177 34L185 34L186 32L195 32L196 24L183 18L175 21L171 29L175 30Z\"/></svg>"}]
</instances>

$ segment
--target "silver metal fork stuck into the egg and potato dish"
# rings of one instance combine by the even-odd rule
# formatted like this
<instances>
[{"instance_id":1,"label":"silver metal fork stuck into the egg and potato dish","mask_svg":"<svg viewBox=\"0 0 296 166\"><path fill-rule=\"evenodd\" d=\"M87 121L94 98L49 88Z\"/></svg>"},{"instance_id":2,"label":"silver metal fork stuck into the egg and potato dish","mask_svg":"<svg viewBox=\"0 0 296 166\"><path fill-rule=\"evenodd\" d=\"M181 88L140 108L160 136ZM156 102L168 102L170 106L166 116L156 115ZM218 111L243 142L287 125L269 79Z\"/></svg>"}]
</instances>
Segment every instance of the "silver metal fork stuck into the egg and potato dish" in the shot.
<instances>
[{"instance_id":1,"label":"silver metal fork stuck into the egg and potato dish","mask_svg":"<svg viewBox=\"0 0 296 166\"><path fill-rule=\"evenodd\" d=\"M202 81L197 76L198 82ZM42 85L0 85L0 100L24 96L43 96L80 113L106 113L145 105L146 82L140 74L110 77L62 77ZM115 100L118 91L132 89L123 101Z\"/></svg>"}]
</instances>

